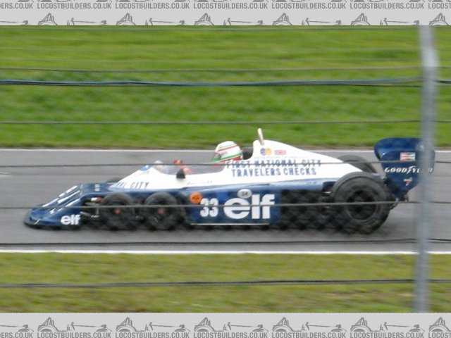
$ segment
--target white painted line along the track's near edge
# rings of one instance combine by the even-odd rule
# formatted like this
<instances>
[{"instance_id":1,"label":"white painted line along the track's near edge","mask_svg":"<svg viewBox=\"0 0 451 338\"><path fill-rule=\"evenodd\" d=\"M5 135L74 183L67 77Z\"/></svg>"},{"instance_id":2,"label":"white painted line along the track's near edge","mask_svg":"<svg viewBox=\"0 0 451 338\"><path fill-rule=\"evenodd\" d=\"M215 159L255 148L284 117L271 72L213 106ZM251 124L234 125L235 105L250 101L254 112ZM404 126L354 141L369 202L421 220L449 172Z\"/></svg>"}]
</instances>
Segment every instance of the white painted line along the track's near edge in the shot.
<instances>
[{"instance_id":1,"label":"white painted line along the track's near edge","mask_svg":"<svg viewBox=\"0 0 451 338\"><path fill-rule=\"evenodd\" d=\"M0 250L0 253L104 253L130 255L416 255L414 251L161 251L161 250ZM428 251L431 255L451 255L451 251Z\"/></svg>"}]
</instances>

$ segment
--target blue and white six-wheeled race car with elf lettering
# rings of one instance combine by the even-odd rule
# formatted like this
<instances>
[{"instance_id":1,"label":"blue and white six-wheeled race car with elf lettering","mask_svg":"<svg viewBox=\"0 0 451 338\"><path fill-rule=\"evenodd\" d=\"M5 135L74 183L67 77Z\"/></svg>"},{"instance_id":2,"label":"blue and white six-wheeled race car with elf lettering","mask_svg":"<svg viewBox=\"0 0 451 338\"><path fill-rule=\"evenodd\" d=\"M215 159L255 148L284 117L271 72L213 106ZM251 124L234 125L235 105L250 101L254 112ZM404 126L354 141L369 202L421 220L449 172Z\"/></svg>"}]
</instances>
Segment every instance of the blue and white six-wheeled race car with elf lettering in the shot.
<instances>
[{"instance_id":1,"label":"blue and white six-wheeled race car with elf lettering","mask_svg":"<svg viewBox=\"0 0 451 338\"><path fill-rule=\"evenodd\" d=\"M239 161L156 161L120 180L71 187L32 208L25 224L108 230L332 225L344 232L371 233L419 182L424 146L417 138L377 142L381 177L358 156L333 158L264 139L261 129L257 134Z\"/></svg>"}]
</instances>

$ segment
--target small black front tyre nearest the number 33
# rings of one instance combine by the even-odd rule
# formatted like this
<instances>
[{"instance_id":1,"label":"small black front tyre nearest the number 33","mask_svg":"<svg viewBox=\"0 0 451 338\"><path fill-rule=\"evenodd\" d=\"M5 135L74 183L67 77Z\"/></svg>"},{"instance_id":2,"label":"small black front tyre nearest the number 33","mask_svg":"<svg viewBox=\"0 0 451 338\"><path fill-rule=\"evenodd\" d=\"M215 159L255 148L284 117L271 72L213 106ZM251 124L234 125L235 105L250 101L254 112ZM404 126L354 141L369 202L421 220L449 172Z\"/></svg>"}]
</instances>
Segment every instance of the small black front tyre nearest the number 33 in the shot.
<instances>
[{"instance_id":1,"label":"small black front tyre nearest the number 33","mask_svg":"<svg viewBox=\"0 0 451 338\"><path fill-rule=\"evenodd\" d=\"M177 225L182 224L183 213L180 208L175 207L177 204L175 197L166 192L150 195L141 211L146 227L156 230L173 230Z\"/></svg>"}]
</instances>

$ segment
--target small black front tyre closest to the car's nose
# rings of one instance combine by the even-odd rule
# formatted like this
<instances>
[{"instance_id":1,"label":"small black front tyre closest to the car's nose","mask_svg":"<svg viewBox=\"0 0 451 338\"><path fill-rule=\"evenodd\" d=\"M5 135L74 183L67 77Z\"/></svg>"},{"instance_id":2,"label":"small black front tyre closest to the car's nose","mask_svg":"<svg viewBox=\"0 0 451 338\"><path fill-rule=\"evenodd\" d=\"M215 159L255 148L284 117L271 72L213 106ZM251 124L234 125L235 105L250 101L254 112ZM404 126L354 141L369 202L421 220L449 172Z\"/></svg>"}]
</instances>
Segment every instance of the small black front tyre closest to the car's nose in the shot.
<instances>
[{"instance_id":1,"label":"small black front tyre closest to the car's nose","mask_svg":"<svg viewBox=\"0 0 451 338\"><path fill-rule=\"evenodd\" d=\"M114 193L106 195L99 208L100 227L108 230L135 230L138 226L135 208L130 208L135 201L127 194ZM125 206L125 208L121 208Z\"/></svg>"}]
</instances>

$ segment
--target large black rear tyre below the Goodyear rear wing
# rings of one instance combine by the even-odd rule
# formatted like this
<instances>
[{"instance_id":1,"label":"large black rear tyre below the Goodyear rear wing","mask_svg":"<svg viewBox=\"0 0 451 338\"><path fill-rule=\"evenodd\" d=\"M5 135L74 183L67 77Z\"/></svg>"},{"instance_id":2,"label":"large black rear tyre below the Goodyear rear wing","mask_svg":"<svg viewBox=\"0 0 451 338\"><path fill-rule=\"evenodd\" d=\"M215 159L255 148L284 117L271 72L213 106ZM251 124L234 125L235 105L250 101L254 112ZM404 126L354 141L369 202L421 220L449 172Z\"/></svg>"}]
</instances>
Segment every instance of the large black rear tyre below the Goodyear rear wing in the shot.
<instances>
[{"instance_id":1,"label":"large black rear tyre below the Goodyear rear wing","mask_svg":"<svg viewBox=\"0 0 451 338\"><path fill-rule=\"evenodd\" d=\"M381 227L390 212L387 189L380 178L370 173L350 173L335 182L332 188L335 203L376 202L333 206L334 225L344 232L369 234Z\"/></svg>"}]
</instances>

